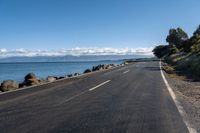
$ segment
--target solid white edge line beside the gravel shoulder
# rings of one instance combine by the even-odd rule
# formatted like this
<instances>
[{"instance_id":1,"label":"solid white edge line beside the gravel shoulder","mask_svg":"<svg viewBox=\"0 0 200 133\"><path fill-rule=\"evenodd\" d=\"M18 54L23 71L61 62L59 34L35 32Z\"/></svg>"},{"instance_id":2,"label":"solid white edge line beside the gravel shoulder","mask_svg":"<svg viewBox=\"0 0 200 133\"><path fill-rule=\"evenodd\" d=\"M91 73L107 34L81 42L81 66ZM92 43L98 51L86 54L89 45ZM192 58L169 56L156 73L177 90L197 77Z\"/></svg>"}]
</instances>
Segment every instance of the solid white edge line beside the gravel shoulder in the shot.
<instances>
[{"instance_id":1,"label":"solid white edge line beside the gravel shoulder","mask_svg":"<svg viewBox=\"0 0 200 133\"><path fill-rule=\"evenodd\" d=\"M192 128L192 126L190 125L189 121L187 120L187 118L186 118L187 114L185 113L185 110L181 106L180 102L177 100L176 95L174 94L174 92L173 92L172 88L170 87L167 79L165 78L165 75L163 73L162 66L161 66L161 60L160 60L159 64L160 64L161 76L162 76L162 78L163 78L163 80L165 82L165 85L166 85L166 87L167 87L167 89L168 89L168 91L169 91L169 93L170 93L170 95L171 95L171 97L172 97L172 99L173 99L173 101L174 101L179 113L183 117L183 121L184 121L186 127L188 128L190 133L197 133L197 131L194 128Z\"/></svg>"}]
</instances>

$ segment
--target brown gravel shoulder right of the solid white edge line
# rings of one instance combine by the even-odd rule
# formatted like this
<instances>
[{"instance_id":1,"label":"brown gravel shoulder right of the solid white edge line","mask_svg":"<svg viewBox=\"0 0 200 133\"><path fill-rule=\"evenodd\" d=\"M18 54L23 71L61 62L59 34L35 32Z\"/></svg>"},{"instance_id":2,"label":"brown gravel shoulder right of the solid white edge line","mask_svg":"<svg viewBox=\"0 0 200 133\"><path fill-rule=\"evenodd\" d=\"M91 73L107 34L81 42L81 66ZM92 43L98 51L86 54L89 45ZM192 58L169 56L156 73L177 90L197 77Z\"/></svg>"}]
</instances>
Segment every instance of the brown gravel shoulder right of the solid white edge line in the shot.
<instances>
[{"instance_id":1,"label":"brown gravel shoulder right of the solid white edge line","mask_svg":"<svg viewBox=\"0 0 200 133\"><path fill-rule=\"evenodd\" d=\"M193 82L176 74L165 73L165 76L182 104L187 119L200 133L200 82Z\"/></svg>"}]
</instances>

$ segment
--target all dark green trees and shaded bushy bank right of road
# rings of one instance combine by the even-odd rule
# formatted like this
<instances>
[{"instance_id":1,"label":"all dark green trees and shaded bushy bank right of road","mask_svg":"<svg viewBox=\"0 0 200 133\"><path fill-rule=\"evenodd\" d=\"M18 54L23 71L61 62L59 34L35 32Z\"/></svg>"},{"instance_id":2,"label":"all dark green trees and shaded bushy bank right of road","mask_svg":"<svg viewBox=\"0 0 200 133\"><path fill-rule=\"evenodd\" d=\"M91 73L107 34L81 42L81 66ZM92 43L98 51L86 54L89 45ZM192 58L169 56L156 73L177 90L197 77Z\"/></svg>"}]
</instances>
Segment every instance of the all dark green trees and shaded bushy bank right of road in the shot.
<instances>
[{"instance_id":1,"label":"all dark green trees and shaded bushy bank right of road","mask_svg":"<svg viewBox=\"0 0 200 133\"><path fill-rule=\"evenodd\" d=\"M195 80L200 79L200 25L191 37L181 28L170 29L167 45L153 49L173 69Z\"/></svg>"}]
</instances>

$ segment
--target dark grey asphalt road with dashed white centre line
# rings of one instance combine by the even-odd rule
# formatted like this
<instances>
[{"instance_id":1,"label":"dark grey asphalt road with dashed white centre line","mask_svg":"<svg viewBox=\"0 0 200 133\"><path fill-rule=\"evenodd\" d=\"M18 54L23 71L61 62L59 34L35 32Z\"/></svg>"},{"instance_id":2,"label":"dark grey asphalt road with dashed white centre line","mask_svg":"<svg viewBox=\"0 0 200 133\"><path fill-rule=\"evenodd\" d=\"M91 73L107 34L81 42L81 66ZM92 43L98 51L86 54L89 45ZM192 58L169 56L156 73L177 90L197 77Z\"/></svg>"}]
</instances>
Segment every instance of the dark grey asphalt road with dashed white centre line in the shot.
<instances>
[{"instance_id":1,"label":"dark grey asphalt road with dashed white centre line","mask_svg":"<svg viewBox=\"0 0 200 133\"><path fill-rule=\"evenodd\" d=\"M186 133L160 74L139 62L0 95L1 133Z\"/></svg>"}]
</instances>

